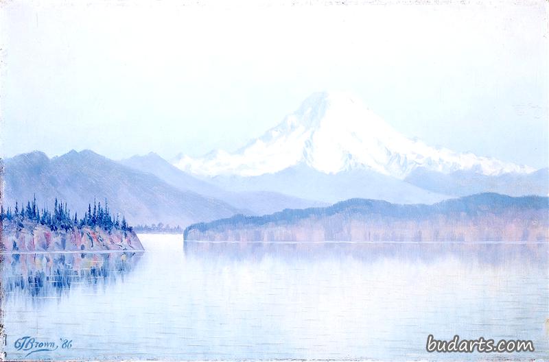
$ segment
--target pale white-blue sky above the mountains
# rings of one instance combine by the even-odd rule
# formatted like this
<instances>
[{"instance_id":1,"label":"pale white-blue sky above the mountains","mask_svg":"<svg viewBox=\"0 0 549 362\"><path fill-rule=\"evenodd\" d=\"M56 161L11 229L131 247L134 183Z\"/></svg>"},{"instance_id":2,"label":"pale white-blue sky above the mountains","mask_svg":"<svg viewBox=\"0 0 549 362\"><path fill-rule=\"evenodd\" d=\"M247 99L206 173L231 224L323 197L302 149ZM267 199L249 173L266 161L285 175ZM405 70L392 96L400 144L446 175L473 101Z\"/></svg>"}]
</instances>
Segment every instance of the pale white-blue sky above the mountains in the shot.
<instances>
[{"instance_id":1,"label":"pale white-blue sky above the mountains","mask_svg":"<svg viewBox=\"0 0 549 362\"><path fill-rule=\"evenodd\" d=\"M342 90L429 145L548 166L545 1L294 2L3 2L3 156L231 151Z\"/></svg>"}]
</instances>

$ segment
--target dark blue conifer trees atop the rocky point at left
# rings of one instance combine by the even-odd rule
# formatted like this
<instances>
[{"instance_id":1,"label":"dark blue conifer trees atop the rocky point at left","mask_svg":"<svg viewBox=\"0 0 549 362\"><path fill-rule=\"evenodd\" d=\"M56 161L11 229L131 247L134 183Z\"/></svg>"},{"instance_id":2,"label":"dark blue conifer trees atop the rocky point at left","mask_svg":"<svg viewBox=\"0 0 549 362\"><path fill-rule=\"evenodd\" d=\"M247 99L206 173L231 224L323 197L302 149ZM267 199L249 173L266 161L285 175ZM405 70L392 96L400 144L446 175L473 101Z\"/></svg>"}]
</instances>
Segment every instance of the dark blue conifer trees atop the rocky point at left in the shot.
<instances>
[{"instance_id":1,"label":"dark blue conifer trees atop the rocky point at left","mask_svg":"<svg viewBox=\"0 0 549 362\"><path fill-rule=\"evenodd\" d=\"M51 230L71 230L89 226L91 228L99 227L106 231L113 229L132 231L132 227L128 226L124 216L120 221L118 215L111 215L106 199L104 206L101 205L101 202L96 203L93 200L93 208L91 204L88 204L88 210L84 213L84 217L78 218L78 213L71 214L67 203L63 204L57 200L57 197L52 212L47 207L38 208L36 196L34 196L32 202L27 201L27 206L21 205L20 207L19 202L15 202L13 209L10 207L4 209L3 205L0 205L0 221L16 222L21 228L25 226L25 223L32 222L49 226Z\"/></svg>"}]
</instances>

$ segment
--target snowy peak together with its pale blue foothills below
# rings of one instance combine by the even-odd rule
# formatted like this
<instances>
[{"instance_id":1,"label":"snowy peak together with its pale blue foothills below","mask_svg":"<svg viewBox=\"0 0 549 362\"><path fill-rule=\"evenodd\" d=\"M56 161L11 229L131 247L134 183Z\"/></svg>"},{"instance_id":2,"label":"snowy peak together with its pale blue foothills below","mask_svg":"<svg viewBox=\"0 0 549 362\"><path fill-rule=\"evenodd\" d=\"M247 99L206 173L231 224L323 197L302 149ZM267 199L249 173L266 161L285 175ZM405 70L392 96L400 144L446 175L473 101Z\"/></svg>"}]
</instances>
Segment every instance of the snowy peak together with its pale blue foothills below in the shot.
<instances>
[{"instance_id":1,"label":"snowy peak together with its pale blue foothills below","mask_svg":"<svg viewBox=\"0 0 549 362\"><path fill-rule=\"evenodd\" d=\"M315 93L237 152L178 156L174 165L224 189L323 202L351 197L432 203L481 192L548 195L548 169L434 148L406 138L360 99Z\"/></svg>"}]
</instances>

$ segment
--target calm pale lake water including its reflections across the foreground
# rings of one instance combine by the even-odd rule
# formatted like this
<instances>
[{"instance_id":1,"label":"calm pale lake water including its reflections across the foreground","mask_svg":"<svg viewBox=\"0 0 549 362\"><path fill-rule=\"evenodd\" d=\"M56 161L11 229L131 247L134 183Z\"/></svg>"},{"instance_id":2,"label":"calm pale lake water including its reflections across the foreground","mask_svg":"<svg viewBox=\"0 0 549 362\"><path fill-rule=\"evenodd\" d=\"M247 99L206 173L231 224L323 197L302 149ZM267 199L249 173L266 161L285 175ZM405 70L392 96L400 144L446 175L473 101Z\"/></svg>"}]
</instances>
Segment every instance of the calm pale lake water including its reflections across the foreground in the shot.
<instances>
[{"instance_id":1,"label":"calm pale lake water including its reflections across the foreground","mask_svg":"<svg viewBox=\"0 0 549 362\"><path fill-rule=\"evenodd\" d=\"M547 243L184 247L178 235L139 238L146 252L1 256L7 358L549 356ZM430 334L531 339L536 350L430 354ZM25 336L49 344L38 352L18 350Z\"/></svg>"}]
</instances>

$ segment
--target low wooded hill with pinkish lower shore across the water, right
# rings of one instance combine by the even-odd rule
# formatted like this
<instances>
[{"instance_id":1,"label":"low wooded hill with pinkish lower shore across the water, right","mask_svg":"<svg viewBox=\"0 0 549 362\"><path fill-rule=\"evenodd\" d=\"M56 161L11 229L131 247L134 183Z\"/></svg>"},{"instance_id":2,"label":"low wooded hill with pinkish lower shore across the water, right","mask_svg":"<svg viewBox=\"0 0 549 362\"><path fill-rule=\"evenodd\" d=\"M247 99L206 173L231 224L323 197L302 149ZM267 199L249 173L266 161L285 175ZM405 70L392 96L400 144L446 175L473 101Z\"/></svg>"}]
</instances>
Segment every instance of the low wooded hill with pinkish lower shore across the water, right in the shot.
<instances>
[{"instance_id":1,"label":"low wooded hill with pinkish lower shore across the water, right","mask_svg":"<svg viewBox=\"0 0 549 362\"><path fill-rule=\"evenodd\" d=\"M432 205L351 199L189 226L193 241L548 241L549 198L482 193Z\"/></svg>"}]
</instances>

